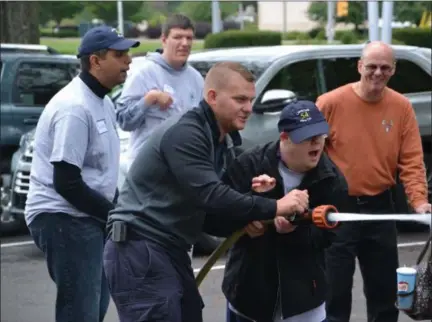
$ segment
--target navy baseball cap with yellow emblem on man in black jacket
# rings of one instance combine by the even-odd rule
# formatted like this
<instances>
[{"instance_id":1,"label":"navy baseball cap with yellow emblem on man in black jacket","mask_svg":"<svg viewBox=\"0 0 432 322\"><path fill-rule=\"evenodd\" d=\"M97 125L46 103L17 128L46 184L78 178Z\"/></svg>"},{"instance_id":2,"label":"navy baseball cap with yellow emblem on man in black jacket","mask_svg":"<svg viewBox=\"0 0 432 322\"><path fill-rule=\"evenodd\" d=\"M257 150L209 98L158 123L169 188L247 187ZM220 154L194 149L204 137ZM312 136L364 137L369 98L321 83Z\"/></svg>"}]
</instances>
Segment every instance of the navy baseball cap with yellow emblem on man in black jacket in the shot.
<instances>
[{"instance_id":1,"label":"navy baseball cap with yellow emblem on man in black jacket","mask_svg":"<svg viewBox=\"0 0 432 322\"><path fill-rule=\"evenodd\" d=\"M282 110L279 132L286 132L298 144L314 136L328 134L329 125L314 102L292 101Z\"/></svg>"}]
</instances>

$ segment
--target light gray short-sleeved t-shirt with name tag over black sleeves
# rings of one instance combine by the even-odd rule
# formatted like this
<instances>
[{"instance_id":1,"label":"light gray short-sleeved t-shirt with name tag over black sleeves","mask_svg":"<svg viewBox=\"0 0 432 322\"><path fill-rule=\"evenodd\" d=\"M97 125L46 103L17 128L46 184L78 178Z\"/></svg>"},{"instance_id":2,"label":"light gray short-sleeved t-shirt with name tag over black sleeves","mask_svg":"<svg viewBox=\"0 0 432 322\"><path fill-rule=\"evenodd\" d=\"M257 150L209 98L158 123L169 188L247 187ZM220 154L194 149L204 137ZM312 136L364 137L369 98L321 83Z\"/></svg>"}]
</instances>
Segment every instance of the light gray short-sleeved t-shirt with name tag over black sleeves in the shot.
<instances>
[{"instance_id":1,"label":"light gray short-sleeved t-shirt with name tag over black sleeves","mask_svg":"<svg viewBox=\"0 0 432 322\"><path fill-rule=\"evenodd\" d=\"M81 169L84 182L112 201L117 187L120 141L114 105L75 77L47 104L37 124L27 225L40 213L63 212L87 217L54 189L53 165L65 161Z\"/></svg>"}]
</instances>

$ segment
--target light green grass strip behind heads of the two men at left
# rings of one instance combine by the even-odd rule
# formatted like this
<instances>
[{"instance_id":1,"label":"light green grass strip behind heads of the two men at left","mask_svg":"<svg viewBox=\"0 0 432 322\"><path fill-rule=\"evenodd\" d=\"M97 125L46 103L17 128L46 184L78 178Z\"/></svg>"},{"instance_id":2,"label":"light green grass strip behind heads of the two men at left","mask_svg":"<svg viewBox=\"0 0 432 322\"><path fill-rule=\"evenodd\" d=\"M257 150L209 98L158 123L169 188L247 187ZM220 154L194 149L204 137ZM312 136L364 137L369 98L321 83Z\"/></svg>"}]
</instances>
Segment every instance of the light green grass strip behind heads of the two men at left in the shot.
<instances>
[{"instance_id":1,"label":"light green grass strip behind heads of the two men at left","mask_svg":"<svg viewBox=\"0 0 432 322\"><path fill-rule=\"evenodd\" d=\"M160 40L141 39L141 45L138 48L131 48L131 53L142 53L147 51L155 51L161 47ZM81 39L79 38L41 38L41 45L52 47L62 54L76 55ZM192 50L200 50L203 48L202 40L195 40Z\"/></svg>"}]
</instances>

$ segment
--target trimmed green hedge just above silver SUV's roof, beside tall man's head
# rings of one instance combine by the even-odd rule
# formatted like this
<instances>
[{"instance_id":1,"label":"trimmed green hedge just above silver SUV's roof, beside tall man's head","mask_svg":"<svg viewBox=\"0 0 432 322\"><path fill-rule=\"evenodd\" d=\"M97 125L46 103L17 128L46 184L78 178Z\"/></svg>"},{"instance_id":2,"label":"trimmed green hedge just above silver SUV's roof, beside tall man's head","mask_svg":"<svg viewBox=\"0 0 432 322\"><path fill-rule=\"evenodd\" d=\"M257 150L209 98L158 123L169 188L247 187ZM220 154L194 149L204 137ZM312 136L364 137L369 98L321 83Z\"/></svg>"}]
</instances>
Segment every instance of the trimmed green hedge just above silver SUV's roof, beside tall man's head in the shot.
<instances>
[{"instance_id":1,"label":"trimmed green hedge just above silver SUV's roof, beside tall man's head","mask_svg":"<svg viewBox=\"0 0 432 322\"><path fill-rule=\"evenodd\" d=\"M207 35L204 48L277 46L281 42L280 32L229 30Z\"/></svg>"}]
</instances>

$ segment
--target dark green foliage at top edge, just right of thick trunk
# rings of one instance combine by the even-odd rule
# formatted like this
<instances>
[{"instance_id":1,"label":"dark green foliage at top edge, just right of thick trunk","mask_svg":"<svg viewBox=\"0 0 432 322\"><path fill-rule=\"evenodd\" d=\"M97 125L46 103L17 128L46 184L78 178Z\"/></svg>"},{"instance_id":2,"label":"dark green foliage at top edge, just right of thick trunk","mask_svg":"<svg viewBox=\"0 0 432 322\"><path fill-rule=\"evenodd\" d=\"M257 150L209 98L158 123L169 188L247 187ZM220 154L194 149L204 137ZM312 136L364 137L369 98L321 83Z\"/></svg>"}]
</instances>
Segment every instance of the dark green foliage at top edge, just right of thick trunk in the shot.
<instances>
[{"instance_id":1,"label":"dark green foliage at top edge, just right of thick trunk","mask_svg":"<svg viewBox=\"0 0 432 322\"><path fill-rule=\"evenodd\" d=\"M54 20L59 26L63 19L73 18L84 9L79 1L40 1L40 15L42 22Z\"/></svg>"}]
</instances>

